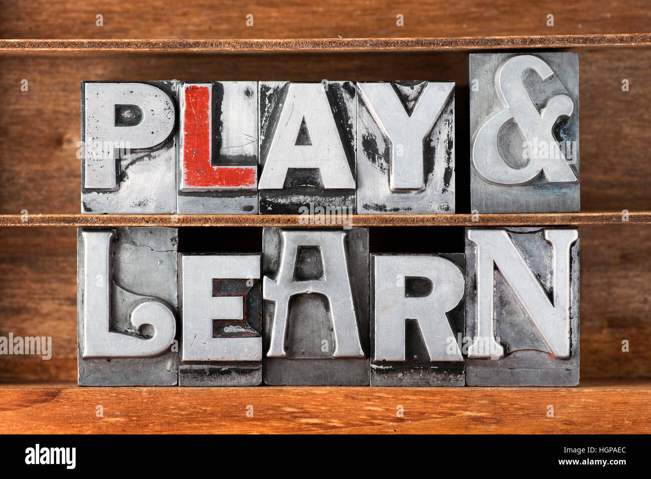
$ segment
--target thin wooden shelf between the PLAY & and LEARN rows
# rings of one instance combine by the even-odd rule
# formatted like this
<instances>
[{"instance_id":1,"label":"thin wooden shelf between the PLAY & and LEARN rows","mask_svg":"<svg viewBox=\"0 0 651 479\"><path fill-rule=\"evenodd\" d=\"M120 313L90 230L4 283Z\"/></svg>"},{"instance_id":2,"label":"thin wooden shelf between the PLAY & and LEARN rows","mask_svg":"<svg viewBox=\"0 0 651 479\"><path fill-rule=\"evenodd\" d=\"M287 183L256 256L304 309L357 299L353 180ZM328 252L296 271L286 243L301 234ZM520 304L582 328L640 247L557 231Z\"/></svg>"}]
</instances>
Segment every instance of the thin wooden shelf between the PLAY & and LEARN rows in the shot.
<instances>
[{"instance_id":1,"label":"thin wooden shelf between the PLAY & and LEARN rows","mask_svg":"<svg viewBox=\"0 0 651 479\"><path fill-rule=\"evenodd\" d=\"M1 226L536 226L647 224L650 211L530 214L0 214Z\"/></svg>"}]
</instances>

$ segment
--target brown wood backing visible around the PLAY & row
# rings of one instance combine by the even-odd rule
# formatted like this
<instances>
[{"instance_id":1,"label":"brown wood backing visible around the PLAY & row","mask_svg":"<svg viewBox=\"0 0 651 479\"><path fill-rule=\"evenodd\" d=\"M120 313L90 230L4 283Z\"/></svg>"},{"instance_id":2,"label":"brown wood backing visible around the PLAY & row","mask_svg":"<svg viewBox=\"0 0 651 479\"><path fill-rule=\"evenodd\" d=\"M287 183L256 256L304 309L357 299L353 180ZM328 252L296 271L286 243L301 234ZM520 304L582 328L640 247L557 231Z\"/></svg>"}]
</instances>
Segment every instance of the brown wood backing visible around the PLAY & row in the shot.
<instances>
[{"instance_id":1,"label":"brown wood backing visible around the PLAY & row","mask_svg":"<svg viewBox=\"0 0 651 479\"><path fill-rule=\"evenodd\" d=\"M581 210L651 210L651 48L585 48L579 65ZM368 81L395 80L396 72L456 81L456 202L458 212L470 212L467 55L378 52L2 55L0 213L79 212L81 80Z\"/></svg>"}]
</instances>

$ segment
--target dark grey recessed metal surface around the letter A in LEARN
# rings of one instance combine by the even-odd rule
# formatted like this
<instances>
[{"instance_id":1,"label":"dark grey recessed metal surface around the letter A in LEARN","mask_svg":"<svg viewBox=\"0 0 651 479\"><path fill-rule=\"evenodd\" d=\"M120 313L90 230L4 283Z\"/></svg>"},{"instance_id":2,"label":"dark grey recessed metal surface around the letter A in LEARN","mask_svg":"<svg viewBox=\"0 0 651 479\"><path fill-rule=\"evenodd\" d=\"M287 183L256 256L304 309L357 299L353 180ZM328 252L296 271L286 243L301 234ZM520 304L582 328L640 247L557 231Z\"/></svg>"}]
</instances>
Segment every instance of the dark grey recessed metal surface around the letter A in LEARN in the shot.
<instances>
[{"instance_id":1,"label":"dark grey recessed metal surface around the letter A in LEARN","mask_svg":"<svg viewBox=\"0 0 651 479\"><path fill-rule=\"evenodd\" d=\"M274 278L279 270L281 228L265 228L262 246L262 274ZM284 358L268 357L274 306L263 302L263 373L268 385L338 386L368 385L368 229L346 230L346 254L353 305L357 317L357 334L365 357L333 358L333 326L320 294L297 295L288 311L286 352ZM307 251L296 260L295 271L301 276L318 276L322 267L314 251ZM322 259L323 261L323 259ZM348 294L342 289L342 294ZM337 300L337 298L330 298ZM322 351L322 341L329 349Z\"/></svg>"}]
</instances>

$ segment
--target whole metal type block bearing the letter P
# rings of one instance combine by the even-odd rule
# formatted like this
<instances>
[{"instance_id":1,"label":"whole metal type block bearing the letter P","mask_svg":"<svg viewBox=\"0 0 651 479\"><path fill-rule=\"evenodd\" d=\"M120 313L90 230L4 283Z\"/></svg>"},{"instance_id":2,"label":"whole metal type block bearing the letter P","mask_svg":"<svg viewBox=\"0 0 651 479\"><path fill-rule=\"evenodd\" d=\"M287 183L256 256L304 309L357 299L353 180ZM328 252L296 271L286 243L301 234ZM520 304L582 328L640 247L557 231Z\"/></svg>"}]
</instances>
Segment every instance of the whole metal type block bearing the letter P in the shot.
<instances>
[{"instance_id":1,"label":"whole metal type block bearing the letter P","mask_svg":"<svg viewBox=\"0 0 651 479\"><path fill-rule=\"evenodd\" d=\"M81 212L176 211L174 81L81 82Z\"/></svg>"}]
</instances>

